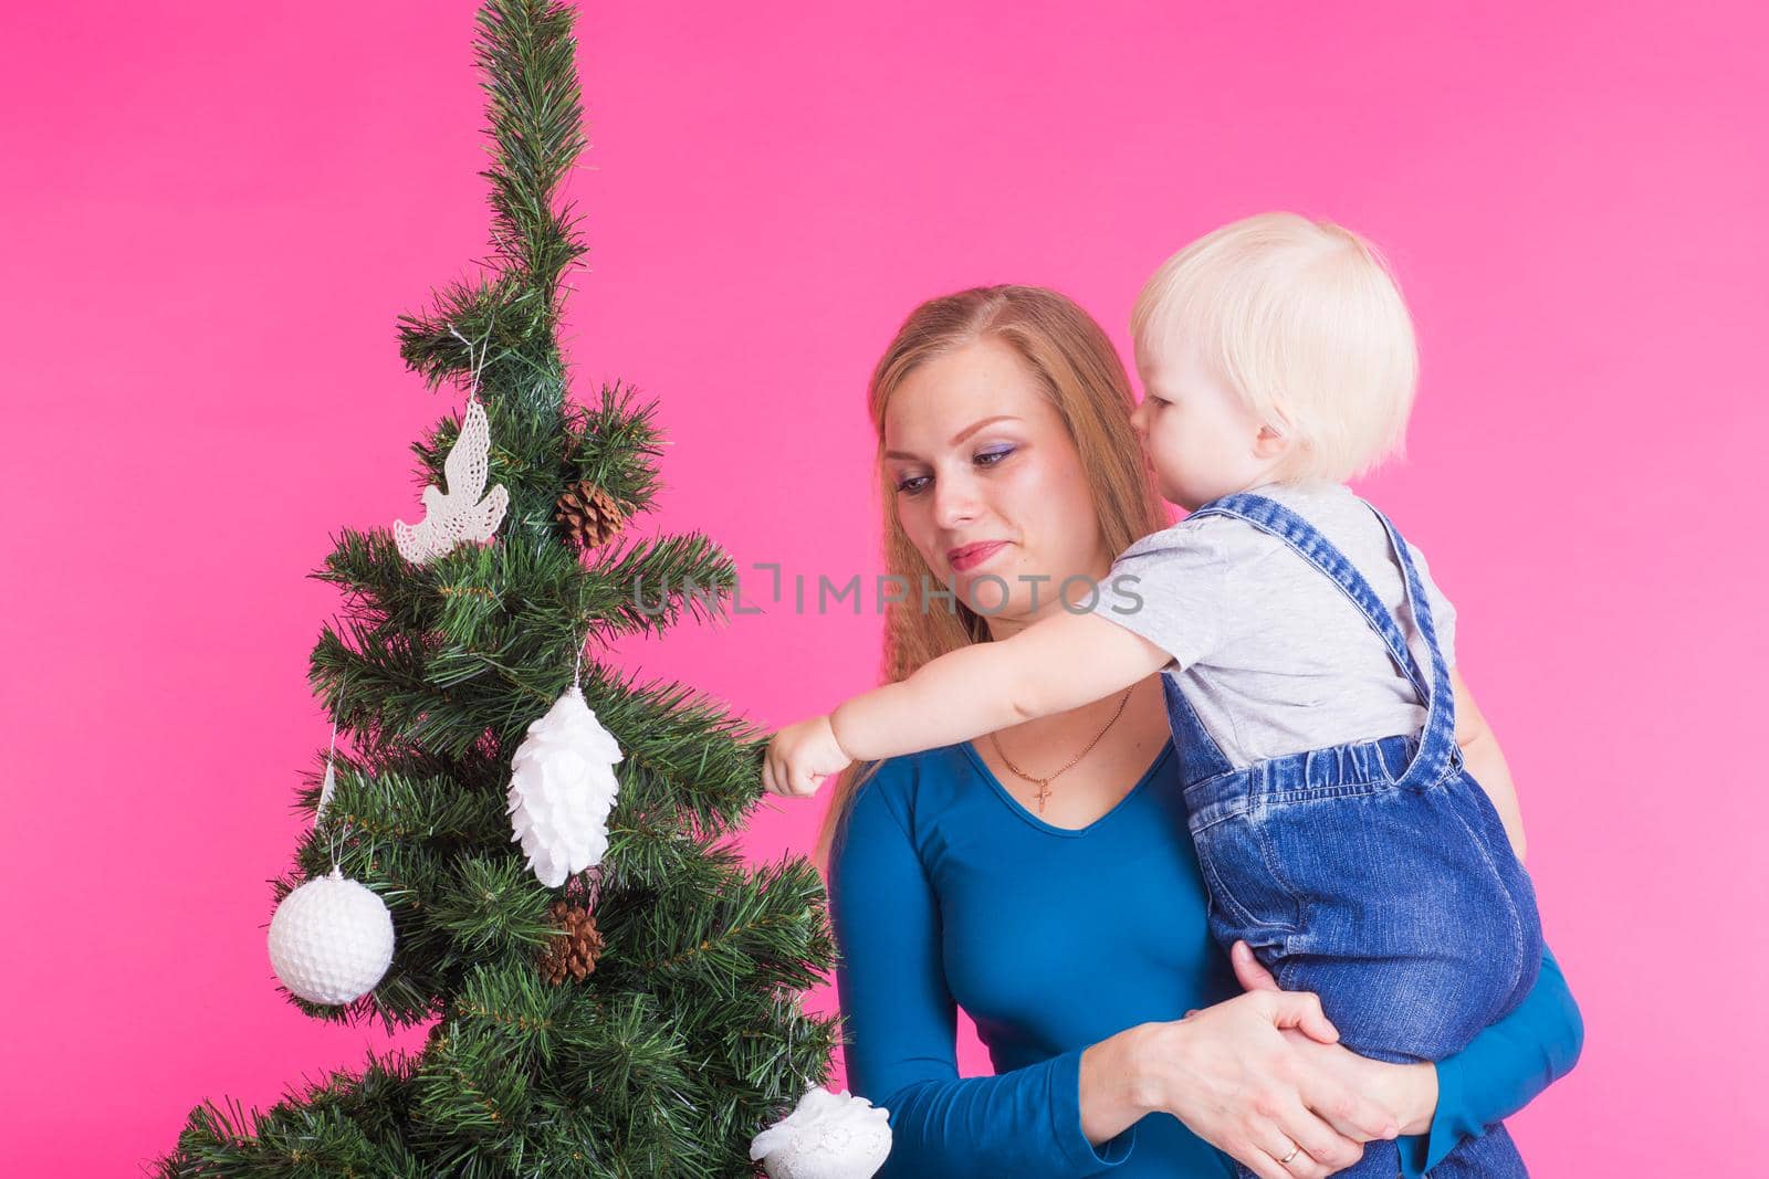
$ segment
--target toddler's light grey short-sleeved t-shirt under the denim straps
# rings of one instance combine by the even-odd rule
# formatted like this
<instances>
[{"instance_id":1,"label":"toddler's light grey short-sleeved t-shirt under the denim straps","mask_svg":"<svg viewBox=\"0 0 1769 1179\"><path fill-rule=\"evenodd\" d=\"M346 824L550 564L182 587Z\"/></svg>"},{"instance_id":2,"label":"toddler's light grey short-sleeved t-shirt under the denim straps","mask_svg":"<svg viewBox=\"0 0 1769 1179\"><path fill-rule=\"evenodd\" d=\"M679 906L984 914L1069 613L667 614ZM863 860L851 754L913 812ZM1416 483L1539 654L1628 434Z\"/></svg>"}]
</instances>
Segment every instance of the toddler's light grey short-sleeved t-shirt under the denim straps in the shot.
<instances>
[{"instance_id":1,"label":"toddler's light grey short-sleeved t-shirt under the denim straps","mask_svg":"<svg viewBox=\"0 0 1769 1179\"><path fill-rule=\"evenodd\" d=\"M1429 681L1431 656L1406 606L1401 567L1369 506L1325 481L1252 491L1307 520L1357 566ZM1408 550L1438 647L1454 666L1456 608L1431 582L1424 553L1412 541ZM1125 574L1137 582L1116 587ZM1162 673L1237 769L1424 728L1419 695L1362 612L1290 544L1242 520L1182 520L1136 541L1113 562L1093 613L1173 656Z\"/></svg>"}]
</instances>

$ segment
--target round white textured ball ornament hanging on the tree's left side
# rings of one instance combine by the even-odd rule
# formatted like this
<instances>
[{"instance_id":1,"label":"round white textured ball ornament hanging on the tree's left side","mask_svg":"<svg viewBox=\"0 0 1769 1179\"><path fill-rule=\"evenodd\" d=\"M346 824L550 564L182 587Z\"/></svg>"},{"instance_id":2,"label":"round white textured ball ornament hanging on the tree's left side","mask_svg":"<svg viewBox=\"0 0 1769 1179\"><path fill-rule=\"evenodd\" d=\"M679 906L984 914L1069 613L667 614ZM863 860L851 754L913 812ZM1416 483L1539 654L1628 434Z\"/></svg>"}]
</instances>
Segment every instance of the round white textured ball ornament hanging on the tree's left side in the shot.
<instances>
[{"instance_id":1,"label":"round white textured ball ornament hanging on the tree's left side","mask_svg":"<svg viewBox=\"0 0 1769 1179\"><path fill-rule=\"evenodd\" d=\"M271 967L295 995L338 1006L375 990L393 962L386 901L338 868L283 898L271 917Z\"/></svg>"}]
</instances>

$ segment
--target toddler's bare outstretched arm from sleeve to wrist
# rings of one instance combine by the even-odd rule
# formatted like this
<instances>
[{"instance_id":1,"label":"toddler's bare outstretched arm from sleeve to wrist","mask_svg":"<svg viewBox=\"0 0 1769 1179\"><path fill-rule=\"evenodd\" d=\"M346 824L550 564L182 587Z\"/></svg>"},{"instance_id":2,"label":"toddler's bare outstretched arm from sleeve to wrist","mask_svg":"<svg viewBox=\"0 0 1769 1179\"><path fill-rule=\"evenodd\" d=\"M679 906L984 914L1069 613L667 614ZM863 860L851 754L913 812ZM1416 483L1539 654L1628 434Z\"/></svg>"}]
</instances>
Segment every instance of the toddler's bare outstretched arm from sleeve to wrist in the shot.
<instances>
[{"instance_id":1,"label":"toddler's bare outstretched arm from sleeve to wrist","mask_svg":"<svg viewBox=\"0 0 1769 1179\"><path fill-rule=\"evenodd\" d=\"M1173 663L1160 647L1095 613L1067 610L1012 638L971 643L830 714L856 762L936 749L1067 712Z\"/></svg>"}]
</instances>

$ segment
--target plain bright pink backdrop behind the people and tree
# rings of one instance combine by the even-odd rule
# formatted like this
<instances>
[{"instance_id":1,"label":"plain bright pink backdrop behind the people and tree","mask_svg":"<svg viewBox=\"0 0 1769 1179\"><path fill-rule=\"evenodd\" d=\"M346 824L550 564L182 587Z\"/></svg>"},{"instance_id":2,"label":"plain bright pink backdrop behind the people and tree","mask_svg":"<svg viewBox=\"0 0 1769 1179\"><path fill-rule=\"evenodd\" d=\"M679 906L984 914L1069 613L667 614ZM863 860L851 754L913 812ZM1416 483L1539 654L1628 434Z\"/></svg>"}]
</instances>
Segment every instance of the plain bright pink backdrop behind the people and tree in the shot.
<instances>
[{"instance_id":1,"label":"plain bright pink backdrop behind the people and tree","mask_svg":"<svg viewBox=\"0 0 1769 1179\"><path fill-rule=\"evenodd\" d=\"M304 666L336 596L304 574L336 529L417 518L409 444L460 407L393 332L485 253L474 5L280 7L7 16L11 1174L129 1174L200 1098L380 1043L278 995L265 882L327 735ZM1366 230L1424 380L1410 461L1362 490L1461 608L1589 1027L1516 1135L1539 1175L1750 1170L1760 9L754 7L578 27L570 348L578 396L662 399L640 529L870 574L863 382L916 300L1044 283L1123 346L1141 279L1226 219ZM870 684L877 640L787 601L621 658L773 726ZM775 802L748 848L808 848L817 810Z\"/></svg>"}]
</instances>

